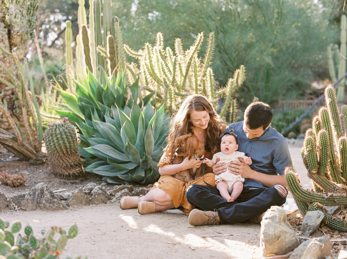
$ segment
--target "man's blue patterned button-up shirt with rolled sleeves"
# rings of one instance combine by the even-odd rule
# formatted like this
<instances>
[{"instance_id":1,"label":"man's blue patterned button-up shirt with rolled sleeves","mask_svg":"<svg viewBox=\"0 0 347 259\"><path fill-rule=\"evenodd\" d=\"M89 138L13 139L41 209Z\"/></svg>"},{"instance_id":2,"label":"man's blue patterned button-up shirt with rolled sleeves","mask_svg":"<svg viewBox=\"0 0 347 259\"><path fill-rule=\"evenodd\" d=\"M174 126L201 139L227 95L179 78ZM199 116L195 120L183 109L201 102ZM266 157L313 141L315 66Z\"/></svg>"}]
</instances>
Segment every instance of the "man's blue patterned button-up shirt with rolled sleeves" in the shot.
<instances>
[{"instance_id":1,"label":"man's blue patterned button-up shirt with rolled sleeves","mask_svg":"<svg viewBox=\"0 0 347 259\"><path fill-rule=\"evenodd\" d=\"M271 126L257 138L249 139L243 130L243 121L229 124L225 129L234 129L238 139L237 151L244 152L251 157L251 169L266 175L283 175L288 166L292 166L286 139ZM256 180L246 178L244 183L246 188L268 188Z\"/></svg>"}]
</instances>

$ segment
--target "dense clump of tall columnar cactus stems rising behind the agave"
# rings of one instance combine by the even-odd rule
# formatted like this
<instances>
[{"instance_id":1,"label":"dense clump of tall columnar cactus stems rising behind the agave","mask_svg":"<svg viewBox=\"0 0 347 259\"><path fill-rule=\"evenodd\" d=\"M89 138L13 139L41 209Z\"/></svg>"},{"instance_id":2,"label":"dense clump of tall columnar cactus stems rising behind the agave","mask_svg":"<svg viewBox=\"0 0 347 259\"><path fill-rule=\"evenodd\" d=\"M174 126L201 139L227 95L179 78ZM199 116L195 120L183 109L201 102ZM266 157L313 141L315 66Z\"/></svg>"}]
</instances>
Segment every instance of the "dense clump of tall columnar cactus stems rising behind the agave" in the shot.
<instances>
[{"instance_id":1,"label":"dense clump of tall columnar cactus stems rising behind the agave","mask_svg":"<svg viewBox=\"0 0 347 259\"><path fill-rule=\"evenodd\" d=\"M117 72L116 67L122 71L125 68L124 49L122 48L121 32L117 17L112 17L110 0L90 0L89 28L84 9L84 0L79 0L78 25L76 48L77 70L87 69L94 75L97 67L101 66L108 71L109 77ZM82 73L82 72L79 72Z\"/></svg>"}]
</instances>

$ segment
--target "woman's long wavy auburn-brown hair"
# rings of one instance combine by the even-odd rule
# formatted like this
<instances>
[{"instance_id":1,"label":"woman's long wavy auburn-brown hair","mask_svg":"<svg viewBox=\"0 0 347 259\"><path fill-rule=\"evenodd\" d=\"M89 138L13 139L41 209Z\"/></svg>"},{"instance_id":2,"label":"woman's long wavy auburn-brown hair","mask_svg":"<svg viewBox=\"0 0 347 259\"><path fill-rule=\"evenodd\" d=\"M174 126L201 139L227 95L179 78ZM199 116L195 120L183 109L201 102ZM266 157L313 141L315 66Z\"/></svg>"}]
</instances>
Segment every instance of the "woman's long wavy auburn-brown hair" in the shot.
<instances>
[{"instance_id":1,"label":"woman's long wavy auburn-brown hair","mask_svg":"<svg viewBox=\"0 0 347 259\"><path fill-rule=\"evenodd\" d=\"M212 105L201 95L190 95L184 99L174 118L170 121L170 131L167 146L174 144L177 137L193 132L193 124L189 121L193 111L206 111L210 114L210 121L205 131L205 151L211 152L215 146L220 146L219 115Z\"/></svg>"}]
</instances>

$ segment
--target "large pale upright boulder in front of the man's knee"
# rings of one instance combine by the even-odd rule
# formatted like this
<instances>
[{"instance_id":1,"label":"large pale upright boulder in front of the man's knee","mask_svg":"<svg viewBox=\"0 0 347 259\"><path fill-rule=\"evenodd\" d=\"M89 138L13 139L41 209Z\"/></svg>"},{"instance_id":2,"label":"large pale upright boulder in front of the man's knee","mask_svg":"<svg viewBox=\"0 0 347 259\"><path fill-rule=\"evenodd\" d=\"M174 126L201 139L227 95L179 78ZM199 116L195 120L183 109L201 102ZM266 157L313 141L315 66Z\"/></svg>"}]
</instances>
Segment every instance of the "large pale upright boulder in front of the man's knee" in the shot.
<instances>
[{"instance_id":1,"label":"large pale upright boulder in front of the man's knee","mask_svg":"<svg viewBox=\"0 0 347 259\"><path fill-rule=\"evenodd\" d=\"M286 254L300 244L293 227L287 221L285 211L278 206L268 209L261 221L260 248L267 254Z\"/></svg>"}]
</instances>

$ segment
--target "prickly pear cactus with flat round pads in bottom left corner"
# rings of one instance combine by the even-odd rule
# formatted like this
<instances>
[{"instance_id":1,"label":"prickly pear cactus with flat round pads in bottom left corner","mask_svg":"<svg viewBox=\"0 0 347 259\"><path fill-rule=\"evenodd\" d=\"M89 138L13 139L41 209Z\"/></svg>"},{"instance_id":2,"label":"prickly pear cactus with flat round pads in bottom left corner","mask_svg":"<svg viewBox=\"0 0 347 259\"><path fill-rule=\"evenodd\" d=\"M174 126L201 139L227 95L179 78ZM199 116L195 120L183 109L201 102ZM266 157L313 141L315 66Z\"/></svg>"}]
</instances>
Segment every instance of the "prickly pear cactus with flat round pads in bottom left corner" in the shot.
<instances>
[{"instance_id":1,"label":"prickly pear cactus with flat round pads in bottom left corner","mask_svg":"<svg viewBox=\"0 0 347 259\"><path fill-rule=\"evenodd\" d=\"M32 227L27 225L24 228L25 235L18 234L15 238L14 233L20 231L22 224L20 221L15 221L12 223L11 229L6 230L9 225L9 222L4 222L0 218L0 257L3 256L4 258L58 258L68 239L76 237L78 233L75 224L69 228L68 235L60 227L51 227L48 230L43 229L41 231L42 237L36 238L33 235ZM57 241L54 240L56 233L60 234Z\"/></svg>"}]
</instances>

